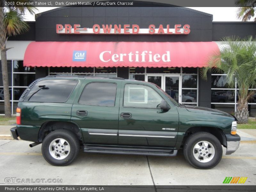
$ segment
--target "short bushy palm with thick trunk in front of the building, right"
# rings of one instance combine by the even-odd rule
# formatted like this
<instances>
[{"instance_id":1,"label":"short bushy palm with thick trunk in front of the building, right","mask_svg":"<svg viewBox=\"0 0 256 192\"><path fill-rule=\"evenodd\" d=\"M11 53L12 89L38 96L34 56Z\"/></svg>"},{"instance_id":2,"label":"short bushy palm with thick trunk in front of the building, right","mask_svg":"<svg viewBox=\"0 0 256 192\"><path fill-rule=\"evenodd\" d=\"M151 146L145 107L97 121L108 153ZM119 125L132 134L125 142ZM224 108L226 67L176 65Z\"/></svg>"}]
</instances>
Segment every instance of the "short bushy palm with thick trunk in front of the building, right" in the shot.
<instances>
[{"instance_id":1,"label":"short bushy palm with thick trunk in front of the building, right","mask_svg":"<svg viewBox=\"0 0 256 192\"><path fill-rule=\"evenodd\" d=\"M227 74L228 87L235 87L238 94L236 118L238 123L247 123L249 111L248 100L256 88L256 39L252 36L241 39L239 37L225 37L221 41L220 51L215 52L209 59L208 66L201 69L201 76L206 79L208 72Z\"/></svg>"}]
</instances>

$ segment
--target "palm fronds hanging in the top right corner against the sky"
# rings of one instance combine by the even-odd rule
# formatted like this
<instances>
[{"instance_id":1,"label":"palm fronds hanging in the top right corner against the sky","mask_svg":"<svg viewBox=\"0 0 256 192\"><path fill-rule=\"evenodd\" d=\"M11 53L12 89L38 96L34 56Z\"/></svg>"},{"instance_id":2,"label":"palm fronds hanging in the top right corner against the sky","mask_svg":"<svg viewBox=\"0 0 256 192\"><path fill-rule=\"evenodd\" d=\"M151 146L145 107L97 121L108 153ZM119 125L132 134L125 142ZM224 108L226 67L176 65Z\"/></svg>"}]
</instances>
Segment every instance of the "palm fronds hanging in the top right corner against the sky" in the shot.
<instances>
[{"instance_id":1,"label":"palm fronds hanging in the top right corner against the sky","mask_svg":"<svg viewBox=\"0 0 256 192\"><path fill-rule=\"evenodd\" d=\"M235 4L239 7L236 14L238 19L248 21L254 17L256 0L236 0ZM256 21L256 17L254 21Z\"/></svg>"}]
</instances>

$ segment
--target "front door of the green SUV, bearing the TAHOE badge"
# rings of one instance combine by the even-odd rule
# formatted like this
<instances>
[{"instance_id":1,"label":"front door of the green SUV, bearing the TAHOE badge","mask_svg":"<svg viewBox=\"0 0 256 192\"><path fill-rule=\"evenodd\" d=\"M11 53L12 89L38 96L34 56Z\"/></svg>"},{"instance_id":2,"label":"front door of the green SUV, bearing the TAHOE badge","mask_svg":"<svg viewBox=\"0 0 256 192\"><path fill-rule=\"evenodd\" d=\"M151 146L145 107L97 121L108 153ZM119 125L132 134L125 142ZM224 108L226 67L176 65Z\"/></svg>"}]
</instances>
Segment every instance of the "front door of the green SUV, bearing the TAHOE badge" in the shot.
<instances>
[{"instance_id":1,"label":"front door of the green SUV, bearing the TAHOE badge","mask_svg":"<svg viewBox=\"0 0 256 192\"><path fill-rule=\"evenodd\" d=\"M129 85L133 86L133 84ZM124 90L123 85L121 90L118 144L174 147L177 140L179 124L177 109L172 107L169 111L163 111L160 108L156 108L157 104L150 103L150 100L159 103L162 100L162 97L153 88L150 89L156 92L160 99L155 98L155 93L152 93L148 89L147 94L145 94L146 99L138 98L136 101L133 97L134 95L129 95L129 93L132 94L133 92L127 91L126 86L127 84ZM133 103L129 103L129 101ZM145 108L147 105L150 108ZM123 118L121 117L122 113L131 114L131 117Z\"/></svg>"}]
</instances>

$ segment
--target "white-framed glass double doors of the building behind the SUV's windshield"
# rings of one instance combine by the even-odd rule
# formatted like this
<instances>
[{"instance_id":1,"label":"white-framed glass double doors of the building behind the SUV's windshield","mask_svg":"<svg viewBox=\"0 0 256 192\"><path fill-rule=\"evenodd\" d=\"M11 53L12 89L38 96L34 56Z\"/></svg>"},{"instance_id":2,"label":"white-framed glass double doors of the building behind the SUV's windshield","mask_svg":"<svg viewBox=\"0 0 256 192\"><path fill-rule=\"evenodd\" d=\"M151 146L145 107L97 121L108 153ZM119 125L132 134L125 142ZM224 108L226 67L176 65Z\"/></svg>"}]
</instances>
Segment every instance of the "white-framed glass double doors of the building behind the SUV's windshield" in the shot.
<instances>
[{"instance_id":1,"label":"white-framed glass double doors of the building behind the SUV's windshield","mask_svg":"<svg viewBox=\"0 0 256 192\"><path fill-rule=\"evenodd\" d=\"M170 95L178 103L181 103L181 81L180 75L146 75L146 81L154 83L161 87L168 95Z\"/></svg>"}]
</instances>

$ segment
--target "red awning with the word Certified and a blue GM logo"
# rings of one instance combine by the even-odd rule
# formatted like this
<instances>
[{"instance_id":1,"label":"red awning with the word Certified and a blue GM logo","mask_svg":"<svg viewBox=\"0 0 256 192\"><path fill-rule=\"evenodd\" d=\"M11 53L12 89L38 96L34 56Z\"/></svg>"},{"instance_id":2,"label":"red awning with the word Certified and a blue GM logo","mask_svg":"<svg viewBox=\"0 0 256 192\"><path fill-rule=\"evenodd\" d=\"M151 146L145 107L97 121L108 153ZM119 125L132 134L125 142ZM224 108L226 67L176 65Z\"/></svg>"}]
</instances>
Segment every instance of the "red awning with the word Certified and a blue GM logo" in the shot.
<instances>
[{"instance_id":1,"label":"red awning with the word Certified and a blue GM logo","mask_svg":"<svg viewBox=\"0 0 256 192\"><path fill-rule=\"evenodd\" d=\"M24 66L204 67L214 42L32 42Z\"/></svg>"}]
</instances>

